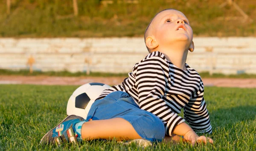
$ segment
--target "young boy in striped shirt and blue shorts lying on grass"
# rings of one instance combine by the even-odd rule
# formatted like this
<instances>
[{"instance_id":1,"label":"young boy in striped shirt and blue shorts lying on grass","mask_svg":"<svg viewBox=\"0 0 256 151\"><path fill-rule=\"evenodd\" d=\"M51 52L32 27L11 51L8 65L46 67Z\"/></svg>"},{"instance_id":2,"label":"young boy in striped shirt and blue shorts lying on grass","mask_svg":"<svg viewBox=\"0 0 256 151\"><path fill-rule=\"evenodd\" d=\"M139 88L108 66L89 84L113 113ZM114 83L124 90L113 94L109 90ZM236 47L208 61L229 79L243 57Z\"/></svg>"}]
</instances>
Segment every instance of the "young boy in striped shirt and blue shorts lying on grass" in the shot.
<instances>
[{"instance_id":1,"label":"young boy in striped shirt and blue shorts lying on grass","mask_svg":"<svg viewBox=\"0 0 256 151\"><path fill-rule=\"evenodd\" d=\"M86 120L68 116L41 143L113 138L153 142L173 134L192 144L213 143L195 133L212 133L212 127L201 77L186 64L188 51L194 50L188 19L175 9L163 10L151 20L144 38L149 54L122 85L103 91ZM177 115L182 108L191 127Z\"/></svg>"}]
</instances>

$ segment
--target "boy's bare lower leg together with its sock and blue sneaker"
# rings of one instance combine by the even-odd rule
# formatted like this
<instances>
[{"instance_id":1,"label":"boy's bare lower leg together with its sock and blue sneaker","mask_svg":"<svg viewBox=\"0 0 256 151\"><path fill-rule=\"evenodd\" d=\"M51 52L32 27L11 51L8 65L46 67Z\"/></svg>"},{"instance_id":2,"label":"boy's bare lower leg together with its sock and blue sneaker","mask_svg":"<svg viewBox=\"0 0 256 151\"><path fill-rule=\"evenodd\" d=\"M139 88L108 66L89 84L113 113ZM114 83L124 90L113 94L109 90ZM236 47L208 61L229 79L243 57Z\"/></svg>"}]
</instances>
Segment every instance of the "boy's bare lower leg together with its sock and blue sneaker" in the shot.
<instances>
[{"instance_id":1,"label":"boy's bare lower leg together with its sock and blue sneaker","mask_svg":"<svg viewBox=\"0 0 256 151\"><path fill-rule=\"evenodd\" d=\"M82 127L79 128L79 123ZM81 136L79 136L81 134ZM42 144L56 142L77 142L77 140L114 139L129 140L141 139L133 126L122 118L87 121L80 116L70 115L52 128L41 139Z\"/></svg>"}]
</instances>

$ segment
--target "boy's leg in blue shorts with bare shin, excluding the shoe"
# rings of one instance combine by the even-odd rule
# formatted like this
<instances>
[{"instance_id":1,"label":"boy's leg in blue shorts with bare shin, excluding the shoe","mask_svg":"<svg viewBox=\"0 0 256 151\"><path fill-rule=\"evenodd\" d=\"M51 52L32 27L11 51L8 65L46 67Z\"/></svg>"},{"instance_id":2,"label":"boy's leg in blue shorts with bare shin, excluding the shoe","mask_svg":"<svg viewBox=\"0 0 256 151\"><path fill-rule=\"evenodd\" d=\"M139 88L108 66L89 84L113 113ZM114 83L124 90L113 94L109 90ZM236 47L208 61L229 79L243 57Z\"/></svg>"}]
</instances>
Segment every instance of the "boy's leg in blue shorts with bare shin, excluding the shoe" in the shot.
<instances>
[{"instance_id":1,"label":"boy's leg in blue shorts with bare shin, excluding the shoe","mask_svg":"<svg viewBox=\"0 0 256 151\"><path fill-rule=\"evenodd\" d=\"M154 142L161 141L165 135L163 122L154 114L140 109L131 96L122 91L95 101L88 112L89 119L93 120L81 126L82 139L143 138Z\"/></svg>"}]
</instances>

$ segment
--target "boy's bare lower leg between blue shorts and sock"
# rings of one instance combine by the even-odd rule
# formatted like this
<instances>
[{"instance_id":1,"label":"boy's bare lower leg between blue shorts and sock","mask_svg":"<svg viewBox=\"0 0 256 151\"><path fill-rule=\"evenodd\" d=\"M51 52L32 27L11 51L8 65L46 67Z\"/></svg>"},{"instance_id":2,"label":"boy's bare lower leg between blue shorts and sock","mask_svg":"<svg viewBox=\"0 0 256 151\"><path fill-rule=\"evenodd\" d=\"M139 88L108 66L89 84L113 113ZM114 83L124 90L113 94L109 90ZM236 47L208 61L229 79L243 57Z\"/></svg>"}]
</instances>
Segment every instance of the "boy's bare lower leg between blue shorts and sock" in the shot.
<instances>
[{"instance_id":1,"label":"boy's bare lower leg between blue shorts and sock","mask_svg":"<svg viewBox=\"0 0 256 151\"><path fill-rule=\"evenodd\" d=\"M84 140L115 138L119 141L141 139L141 136L137 134L130 122L122 118L85 122L81 128L81 136Z\"/></svg>"}]
</instances>

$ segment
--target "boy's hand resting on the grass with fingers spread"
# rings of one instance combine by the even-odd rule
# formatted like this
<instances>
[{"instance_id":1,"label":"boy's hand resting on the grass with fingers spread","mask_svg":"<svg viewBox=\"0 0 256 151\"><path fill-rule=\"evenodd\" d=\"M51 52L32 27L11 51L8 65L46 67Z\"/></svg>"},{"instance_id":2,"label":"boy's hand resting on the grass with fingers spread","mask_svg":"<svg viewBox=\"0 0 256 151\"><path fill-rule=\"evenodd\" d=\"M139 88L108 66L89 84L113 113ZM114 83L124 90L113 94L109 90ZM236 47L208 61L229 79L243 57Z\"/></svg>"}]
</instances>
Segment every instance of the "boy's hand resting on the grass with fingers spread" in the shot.
<instances>
[{"instance_id":1,"label":"boy's hand resting on the grass with fingers spread","mask_svg":"<svg viewBox=\"0 0 256 151\"><path fill-rule=\"evenodd\" d=\"M213 140L206 136L198 136L193 130L189 130L186 132L186 134L183 136L184 139L191 142L192 145L195 145L196 142L204 142L205 144L207 142L210 142L213 144Z\"/></svg>"}]
</instances>

